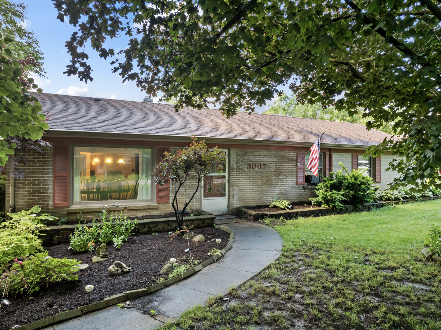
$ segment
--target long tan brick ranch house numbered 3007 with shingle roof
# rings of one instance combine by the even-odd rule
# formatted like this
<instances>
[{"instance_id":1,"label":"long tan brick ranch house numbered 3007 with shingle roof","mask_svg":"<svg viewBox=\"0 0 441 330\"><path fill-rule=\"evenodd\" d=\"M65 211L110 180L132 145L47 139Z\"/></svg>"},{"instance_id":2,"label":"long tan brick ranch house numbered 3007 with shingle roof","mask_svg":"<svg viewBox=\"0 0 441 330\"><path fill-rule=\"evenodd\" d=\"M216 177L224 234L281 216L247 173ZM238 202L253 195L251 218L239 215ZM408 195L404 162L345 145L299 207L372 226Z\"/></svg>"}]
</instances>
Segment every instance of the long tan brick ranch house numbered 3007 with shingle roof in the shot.
<instances>
[{"instance_id":1,"label":"long tan brick ranch house numbered 3007 with shingle roof","mask_svg":"<svg viewBox=\"0 0 441 330\"><path fill-rule=\"evenodd\" d=\"M389 135L366 130L360 124L239 112L226 119L213 109L182 109L172 105L108 100L56 94L38 95L49 112L44 139L51 147L43 153L17 150L28 164L24 180L7 176L6 205L16 211L39 205L42 212L76 219L82 212L93 218L104 208L123 210L129 216L172 211L173 187L156 186L149 174L165 151L176 152L191 143L194 134L217 145L227 155L224 173L206 177L191 202L192 209L224 214L239 206L269 204L273 196L290 201L308 200L313 186L305 167L318 136L321 139L319 171L328 175L340 169L367 168L382 189L396 173L386 172L392 155L363 158L366 147ZM10 169L7 168L7 172ZM207 190L209 180L211 193ZM182 189L187 200L195 180Z\"/></svg>"}]
</instances>

